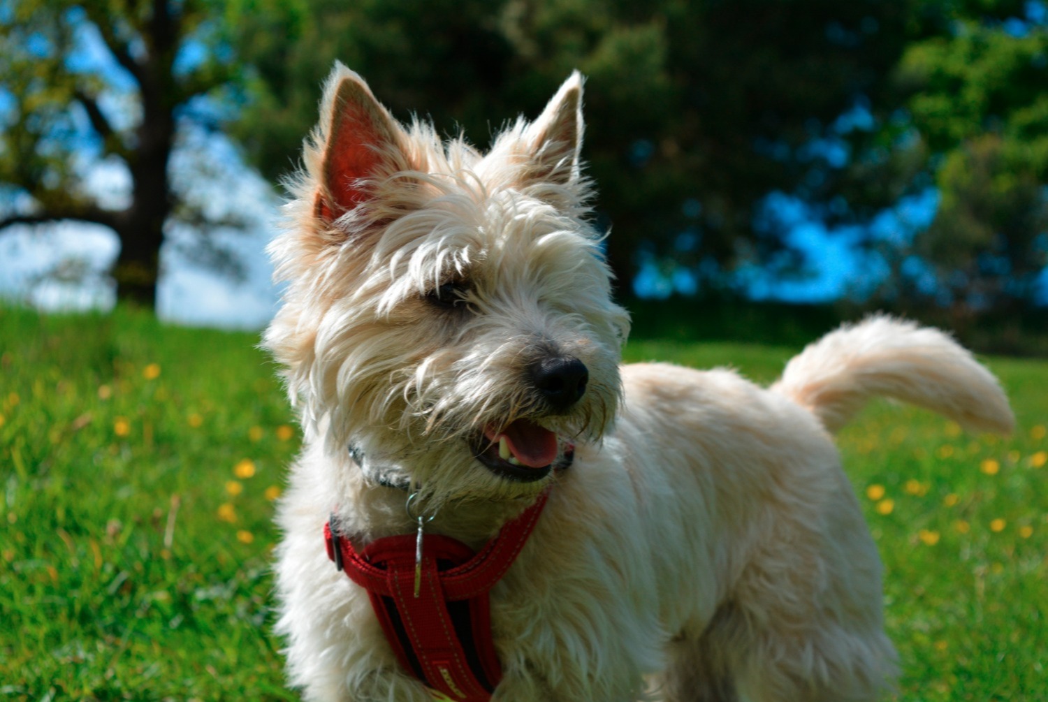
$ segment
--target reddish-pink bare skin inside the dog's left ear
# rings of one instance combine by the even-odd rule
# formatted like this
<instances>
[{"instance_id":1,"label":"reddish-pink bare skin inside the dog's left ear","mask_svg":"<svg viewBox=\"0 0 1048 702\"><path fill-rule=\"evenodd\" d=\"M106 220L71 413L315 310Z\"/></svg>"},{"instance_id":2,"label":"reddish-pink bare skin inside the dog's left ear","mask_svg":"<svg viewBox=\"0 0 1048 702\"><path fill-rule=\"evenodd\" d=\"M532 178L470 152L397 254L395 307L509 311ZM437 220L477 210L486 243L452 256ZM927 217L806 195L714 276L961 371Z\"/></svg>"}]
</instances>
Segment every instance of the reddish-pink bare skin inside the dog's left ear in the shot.
<instances>
[{"instance_id":1,"label":"reddish-pink bare skin inside the dog's left ear","mask_svg":"<svg viewBox=\"0 0 1048 702\"><path fill-rule=\"evenodd\" d=\"M324 156L325 184L333 202L319 198L322 217L332 219L368 199L367 189L357 181L375 172L383 159L375 147L390 138L376 126L375 116L361 105L342 102Z\"/></svg>"}]
</instances>

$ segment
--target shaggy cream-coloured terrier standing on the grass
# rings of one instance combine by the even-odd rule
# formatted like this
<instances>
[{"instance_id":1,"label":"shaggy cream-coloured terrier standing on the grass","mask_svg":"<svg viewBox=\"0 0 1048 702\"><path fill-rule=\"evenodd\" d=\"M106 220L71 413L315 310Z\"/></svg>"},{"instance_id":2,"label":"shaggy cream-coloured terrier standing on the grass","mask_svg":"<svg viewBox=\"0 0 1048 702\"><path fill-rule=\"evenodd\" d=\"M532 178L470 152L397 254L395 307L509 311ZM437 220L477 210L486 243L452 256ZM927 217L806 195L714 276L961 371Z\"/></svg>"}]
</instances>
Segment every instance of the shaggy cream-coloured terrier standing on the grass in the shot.
<instances>
[{"instance_id":1,"label":"shaggy cream-coloured terrier standing on the grass","mask_svg":"<svg viewBox=\"0 0 1048 702\"><path fill-rule=\"evenodd\" d=\"M444 682L413 672L390 633L452 605L384 619L389 597L342 560L367 570L369 545L399 539L421 569L435 540L478 553L529 514L478 610L489 699L875 700L896 654L831 436L877 395L1007 434L1007 399L947 335L882 315L766 389L620 366L630 323L588 219L582 101L575 72L481 153L399 124L341 64L327 79L270 245L285 287L263 341L304 435L278 508L290 681L309 700L486 699L459 663L431 666Z\"/></svg>"}]
</instances>

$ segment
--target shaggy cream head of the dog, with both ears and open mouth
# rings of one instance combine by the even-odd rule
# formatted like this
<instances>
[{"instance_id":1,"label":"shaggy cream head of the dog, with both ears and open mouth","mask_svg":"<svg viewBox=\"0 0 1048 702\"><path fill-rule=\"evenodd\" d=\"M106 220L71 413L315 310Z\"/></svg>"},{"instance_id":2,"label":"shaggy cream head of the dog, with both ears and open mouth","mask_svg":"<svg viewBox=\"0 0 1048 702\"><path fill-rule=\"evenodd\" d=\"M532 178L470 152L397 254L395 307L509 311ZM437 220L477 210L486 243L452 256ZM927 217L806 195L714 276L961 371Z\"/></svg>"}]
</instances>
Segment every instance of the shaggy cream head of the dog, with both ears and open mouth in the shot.
<instances>
[{"instance_id":1,"label":"shaggy cream head of the dog, with both ears and open mouth","mask_svg":"<svg viewBox=\"0 0 1048 702\"><path fill-rule=\"evenodd\" d=\"M336 64L270 246L265 346L308 441L432 499L533 493L613 420L626 311L581 173L582 79L481 154Z\"/></svg>"}]
</instances>

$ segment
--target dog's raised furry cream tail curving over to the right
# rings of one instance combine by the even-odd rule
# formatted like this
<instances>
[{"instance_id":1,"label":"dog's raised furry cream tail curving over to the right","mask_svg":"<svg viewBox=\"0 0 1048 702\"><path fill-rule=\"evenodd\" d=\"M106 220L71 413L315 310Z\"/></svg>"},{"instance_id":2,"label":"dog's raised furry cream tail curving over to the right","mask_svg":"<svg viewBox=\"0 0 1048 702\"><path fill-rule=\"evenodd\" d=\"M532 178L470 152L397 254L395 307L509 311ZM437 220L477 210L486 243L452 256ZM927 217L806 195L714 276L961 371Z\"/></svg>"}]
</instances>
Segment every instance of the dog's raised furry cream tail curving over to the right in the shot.
<instances>
[{"instance_id":1,"label":"dog's raised furry cream tail curving over to the right","mask_svg":"<svg viewBox=\"0 0 1048 702\"><path fill-rule=\"evenodd\" d=\"M967 430L1008 434L1014 416L997 378L937 329L872 316L793 357L771 390L836 432L876 395L934 410Z\"/></svg>"}]
</instances>

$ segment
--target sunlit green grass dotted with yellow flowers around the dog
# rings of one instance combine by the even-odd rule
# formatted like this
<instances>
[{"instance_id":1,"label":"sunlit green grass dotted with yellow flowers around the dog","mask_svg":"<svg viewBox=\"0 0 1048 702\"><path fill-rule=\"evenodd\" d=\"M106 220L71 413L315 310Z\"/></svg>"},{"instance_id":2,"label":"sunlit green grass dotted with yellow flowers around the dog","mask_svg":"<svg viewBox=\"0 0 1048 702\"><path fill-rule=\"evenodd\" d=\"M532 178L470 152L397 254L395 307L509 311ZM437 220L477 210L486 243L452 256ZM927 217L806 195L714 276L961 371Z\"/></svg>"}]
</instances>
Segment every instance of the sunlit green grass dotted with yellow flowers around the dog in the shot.
<instances>
[{"instance_id":1,"label":"sunlit green grass dotted with yellow flowers around the dog","mask_svg":"<svg viewBox=\"0 0 1048 702\"><path fill-rule=\"evenodd\" d=\"M271 499L298 448L245 333L0 308L0 697L297 699L271 634ZM795 347L638 341L769 381ZM1048 363L989 359L1019 430L875 403L840 446L887 566L899 700L1048 690Z\"/></svg>"}]
</instances>

